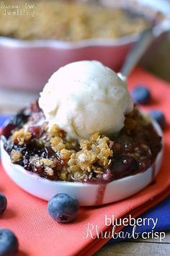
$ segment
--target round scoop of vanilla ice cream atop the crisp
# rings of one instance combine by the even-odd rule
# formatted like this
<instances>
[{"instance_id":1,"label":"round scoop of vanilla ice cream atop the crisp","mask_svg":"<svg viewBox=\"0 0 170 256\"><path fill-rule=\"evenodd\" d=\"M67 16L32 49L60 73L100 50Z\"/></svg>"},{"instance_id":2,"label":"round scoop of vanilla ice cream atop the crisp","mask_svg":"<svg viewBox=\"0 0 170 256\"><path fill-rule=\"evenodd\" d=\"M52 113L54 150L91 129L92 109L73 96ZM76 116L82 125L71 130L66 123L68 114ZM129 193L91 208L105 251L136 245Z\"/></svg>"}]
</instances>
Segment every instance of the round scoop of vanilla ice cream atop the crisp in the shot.
<instances>
[{"instance_id":1,"label":"round scoop of vanilla ice cream atop the crisp","mask_svg":"<svg viewBox=\"0 0 170 256\"><path fill-rule=\"evenodd\" d=\"M127 85L99 61L77 61L55 72L40 93L40 108L49 126L68 137L88 139L94 132L112 135L133 110Z\"/></svg>"}]
</instances>

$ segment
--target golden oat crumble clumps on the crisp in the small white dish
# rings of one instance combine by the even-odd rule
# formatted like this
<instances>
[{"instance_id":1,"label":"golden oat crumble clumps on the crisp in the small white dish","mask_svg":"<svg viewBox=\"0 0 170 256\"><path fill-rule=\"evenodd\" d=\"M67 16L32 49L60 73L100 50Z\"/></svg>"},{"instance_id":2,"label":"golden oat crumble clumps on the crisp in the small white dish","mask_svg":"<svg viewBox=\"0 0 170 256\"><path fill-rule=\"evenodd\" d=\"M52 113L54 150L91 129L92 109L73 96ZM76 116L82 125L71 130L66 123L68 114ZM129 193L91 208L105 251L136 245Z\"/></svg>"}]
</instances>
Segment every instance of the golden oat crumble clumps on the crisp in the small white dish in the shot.
<instances>
[{"instance_id":1,"label":"golden oat crumble clumps on the crisp in the small white dish","mask_svg":"<svg viewBox=\"0 0 170 256\"><path fill-rule=\"evenodd\" d=\"M73 149L73 140L66 140L59 127L54 124L48 130L48 139L50 146L58 154L58 158L65 163L65 168L58 172L61 180L68 179L68 175L84 176L94 171L96 174L103 174L103 168L107 168L110 163L110 158L113 155L112 150L109 148L109 137L101 137L99 132L91 135L90 140L81 140L79 150ZM63 138L61 138L63 137ZM32 138L32 134L24 129L19 129L12 135L14 144L23 145ZM46 142L48 143L48 142ZM74 144L78 142L74 141ZM70 148L71 150L69 150ZM12 152L12 162L15 163L22 158L19 152ZM56 158L38 158L33 157L32 163L35 164L37 170L43 166L45 174L53 176L53 168L56 167Z\"/></svg>"}]
</instances>

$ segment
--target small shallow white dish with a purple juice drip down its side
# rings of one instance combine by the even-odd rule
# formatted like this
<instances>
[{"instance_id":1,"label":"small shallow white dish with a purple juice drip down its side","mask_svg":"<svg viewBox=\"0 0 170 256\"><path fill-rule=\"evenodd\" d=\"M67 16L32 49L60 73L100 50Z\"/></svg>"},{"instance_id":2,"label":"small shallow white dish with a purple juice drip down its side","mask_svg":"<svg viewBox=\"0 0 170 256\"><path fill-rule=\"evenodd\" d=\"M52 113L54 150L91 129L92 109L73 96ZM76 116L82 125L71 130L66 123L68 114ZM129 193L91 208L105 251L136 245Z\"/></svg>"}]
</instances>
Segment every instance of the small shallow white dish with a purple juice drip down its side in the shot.
<instances>
[{"instance_id":1,"label":"small shallow white dish with a purple juice drip down its side","mask_svg":"<svg viewBox=\"0 0 170 256\"><path fill-rule=\"evenodd\" d=\"M153 121L153 125L162 136L161 128ZM162 142L163 143L163 142ZM148 186L158 174L161 167L163 149L158 153L156 161L147 171L117 179L108 184L86 184L81 182L55 182L26 171L22 166L14 164L4 150L1 140L1 162L6 174L22 189L36 197L49 200L58 193L67 193L79 200L80 205L102 205L130 197Z\"/></svg>"}]
</instances>

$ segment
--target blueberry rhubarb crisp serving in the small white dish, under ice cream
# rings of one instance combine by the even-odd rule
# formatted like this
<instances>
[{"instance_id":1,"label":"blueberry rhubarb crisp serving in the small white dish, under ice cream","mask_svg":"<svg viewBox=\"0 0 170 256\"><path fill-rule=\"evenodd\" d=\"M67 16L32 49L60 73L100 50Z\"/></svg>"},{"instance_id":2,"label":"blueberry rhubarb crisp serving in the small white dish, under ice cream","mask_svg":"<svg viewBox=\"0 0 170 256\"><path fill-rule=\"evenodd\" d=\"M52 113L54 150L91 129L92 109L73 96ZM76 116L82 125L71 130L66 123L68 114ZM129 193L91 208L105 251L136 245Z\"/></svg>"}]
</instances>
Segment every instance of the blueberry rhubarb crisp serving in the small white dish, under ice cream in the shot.
<instances>
[{"instance_id":1,"label":"blueberry rhubarb crisp serving in the small white dish, under ice cream","mask_svg":"<svg viewBox=\"0 0 170 256\"><path fill-rule=\"evenodd\" d=\"M111 182L146 171L161 150L161 137L136 107L116 135L95 132L79 142L56 124L49 129L36 102L14 116L3 135L12 163L55 181Z\"/></svg>"}]
</instances>

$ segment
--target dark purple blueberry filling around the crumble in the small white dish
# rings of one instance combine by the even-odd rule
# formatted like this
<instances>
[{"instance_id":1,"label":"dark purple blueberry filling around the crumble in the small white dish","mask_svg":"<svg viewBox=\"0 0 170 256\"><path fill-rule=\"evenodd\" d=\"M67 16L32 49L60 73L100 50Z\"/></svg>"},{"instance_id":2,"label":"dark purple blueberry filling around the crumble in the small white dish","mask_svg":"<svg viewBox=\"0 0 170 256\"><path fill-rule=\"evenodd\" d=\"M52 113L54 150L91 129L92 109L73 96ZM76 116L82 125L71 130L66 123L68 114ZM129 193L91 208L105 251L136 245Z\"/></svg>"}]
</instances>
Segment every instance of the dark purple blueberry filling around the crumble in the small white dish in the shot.
<instances>
[{"instance_id":1,"label":"dark purple blueberry filling around the crumble in the small white dish","mask_svg":"<svg viewBox=\"0 0 170 256\"><path fill-rule=\"evenodd\" d=\"M12 140L15 131L27 125L31 139L22 143ZM61 137L64 132L61 132ZM9 120L3 130L4 149L9 153L12 162L23 166L46 179L68 182L107 183L125 176L146 171L155 161L161 150L161 137L153 128L151 121L143 118L138 108L125 116L125 126L118 135L110 137L108 144L112 156L107 166L93 163L89 171L67 171L62 150L54 150L48 140L47 123L37 103L20 111ZM71 150L81 150L78 142L71 142ZM95 144L96 142L94 142ZM15 155L14 155L15 153ZM17 159L17 160L16 160Z\"/></svg>"}]
</instances>

